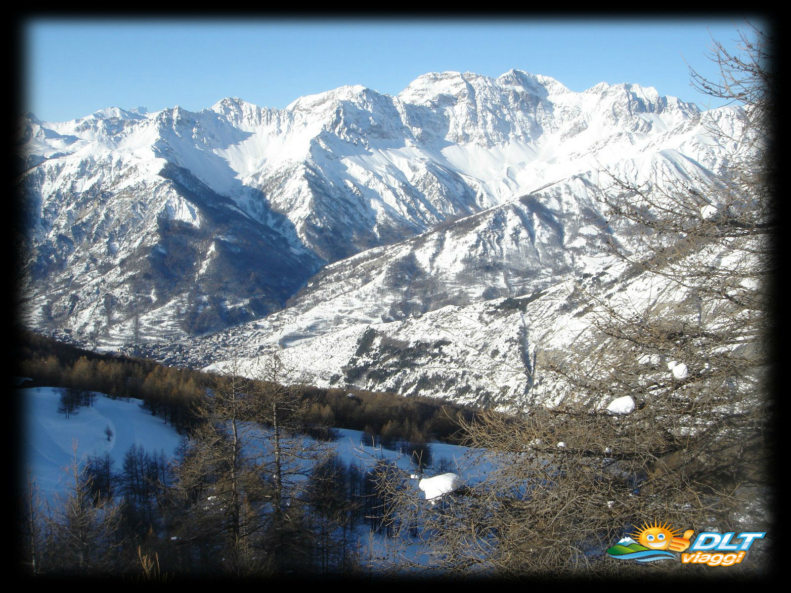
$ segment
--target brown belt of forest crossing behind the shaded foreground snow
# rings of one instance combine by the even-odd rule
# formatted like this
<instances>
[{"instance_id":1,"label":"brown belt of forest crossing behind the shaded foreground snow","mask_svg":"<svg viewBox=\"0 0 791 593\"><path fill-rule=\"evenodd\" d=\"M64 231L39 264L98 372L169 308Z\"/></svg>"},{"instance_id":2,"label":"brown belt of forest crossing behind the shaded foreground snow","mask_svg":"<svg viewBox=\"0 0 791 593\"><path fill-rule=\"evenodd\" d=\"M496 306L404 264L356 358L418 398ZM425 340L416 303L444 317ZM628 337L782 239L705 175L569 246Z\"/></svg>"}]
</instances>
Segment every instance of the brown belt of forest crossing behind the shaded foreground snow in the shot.
<instances>
[{"instance_id":1,"label":"brown belt of forest crossing behind the shaded foreground snow","mask_svg":"<svg viewBox=\"0 0 791 593\"><path fill-rule=\"evenodd\" d=\"M117 353L96 353L28 330L18 331L17 343L14 372L31 378L26 383L31 387L71 390L69 413L89 404L85 398L91 392L110 398L137 398L151 414L186 432L196 421L191 410L213 380L209 373L195 369L168 367ZM316 425L361 430L385 448L397 448L405 442L423 448L434 439L459 444L459 421L471 421L478 413L470 406L431 398L356 388L303 385L300 391L309 403L306 429Z\"/></svg>"}]
</instances>

